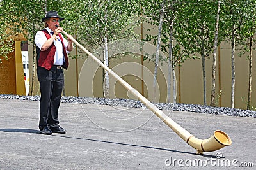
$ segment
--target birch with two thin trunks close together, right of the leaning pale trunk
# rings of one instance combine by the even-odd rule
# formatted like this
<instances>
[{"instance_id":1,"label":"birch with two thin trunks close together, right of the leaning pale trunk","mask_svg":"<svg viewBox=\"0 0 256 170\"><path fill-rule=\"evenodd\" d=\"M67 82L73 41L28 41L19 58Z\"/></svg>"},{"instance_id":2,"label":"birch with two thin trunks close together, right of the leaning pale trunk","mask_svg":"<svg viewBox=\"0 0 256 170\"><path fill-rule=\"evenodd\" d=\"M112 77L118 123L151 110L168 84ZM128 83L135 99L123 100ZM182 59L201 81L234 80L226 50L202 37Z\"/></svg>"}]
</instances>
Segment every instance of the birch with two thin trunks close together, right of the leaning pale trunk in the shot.
<instances>
[{"instance_id":1,"label":"birch with two thin trunks close together, right of the leaning pale trunk","mask_svg":"<svg viewBox=\"0 0 256 170\"><path fill-rule=\"evenodd\" d=\"M182 15L182 6L184 2L167 1L166 13L163 22L163 41L161 50L168 53L168 87L167 87L167 103L176 103L176 77L175 67L181 64L189 57L187 49L182 48L179 43L179 25L184 23L184 16ZM171 94L171 87L173 94Z\"/></svg>"}]
</instances>

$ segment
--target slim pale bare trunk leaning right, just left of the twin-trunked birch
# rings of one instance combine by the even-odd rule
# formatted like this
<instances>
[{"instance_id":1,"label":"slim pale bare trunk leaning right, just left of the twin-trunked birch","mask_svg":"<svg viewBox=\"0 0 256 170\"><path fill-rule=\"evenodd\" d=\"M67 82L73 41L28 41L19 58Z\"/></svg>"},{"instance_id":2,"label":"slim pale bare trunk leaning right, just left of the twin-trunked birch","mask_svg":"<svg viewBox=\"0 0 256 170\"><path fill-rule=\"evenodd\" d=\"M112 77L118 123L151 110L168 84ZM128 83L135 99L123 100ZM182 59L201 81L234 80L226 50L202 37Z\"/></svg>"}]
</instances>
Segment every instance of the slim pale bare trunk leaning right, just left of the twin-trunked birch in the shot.
<instances>
[{"instance_id":1,"label":"slim pale bare trunk leaning right, just left of the twin-trunked birch","mask_svg":"<svg viewBox=\"0 0 256 170\"><path fill-rule=\"evenodd\" d=\"M157 78L157 69L158 69L158 61L159 61L159 50L161 43L161 32L163 25L163 15L164 15L164 1L161 5L160 10L160 19L159 19L159 27L158 27L158 39L157 39L157 48L156 48L156 61L155 61L155 69L154 69L154 80L153 80L153 101L156 99L156 78Z\"/></svg>"}]
</instances>

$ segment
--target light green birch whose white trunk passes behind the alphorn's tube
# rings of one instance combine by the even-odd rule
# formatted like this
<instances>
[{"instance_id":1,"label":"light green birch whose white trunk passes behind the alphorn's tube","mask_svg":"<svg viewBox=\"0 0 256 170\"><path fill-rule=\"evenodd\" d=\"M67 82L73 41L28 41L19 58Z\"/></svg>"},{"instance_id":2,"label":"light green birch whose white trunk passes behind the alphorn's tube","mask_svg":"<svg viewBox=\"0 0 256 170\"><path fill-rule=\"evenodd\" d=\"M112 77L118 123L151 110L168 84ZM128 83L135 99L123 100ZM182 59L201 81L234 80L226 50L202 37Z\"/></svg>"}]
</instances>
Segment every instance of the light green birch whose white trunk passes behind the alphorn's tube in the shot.
<instances>
[{"instance_id":1,"label":"light green birch whose white trunk passes behind the alphorn's tube","mask_svg":"<svg viewBox=\"0 0 256 170\"><path fill-rule=\"evenodd\" d=\"M91 49L102 46L104 64L109 65L108 43L117 39L134 38L134 27L138 24L136 1L97 0L86 2L81 13L79 38ZM103 96L109 97L109 76L103 71Z\"/></svg>"}]
</instances>

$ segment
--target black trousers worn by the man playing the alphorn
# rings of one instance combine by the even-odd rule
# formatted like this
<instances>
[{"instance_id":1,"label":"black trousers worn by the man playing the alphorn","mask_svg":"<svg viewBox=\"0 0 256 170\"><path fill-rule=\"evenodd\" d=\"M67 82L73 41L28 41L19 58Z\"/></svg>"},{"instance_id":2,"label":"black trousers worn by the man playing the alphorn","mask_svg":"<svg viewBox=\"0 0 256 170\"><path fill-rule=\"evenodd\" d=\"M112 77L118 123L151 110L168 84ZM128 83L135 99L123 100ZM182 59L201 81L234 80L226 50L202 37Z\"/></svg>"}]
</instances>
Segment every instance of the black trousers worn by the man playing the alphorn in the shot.
<instances>
[{"instance_id":1,"label":"black trousers worn by the man playing the alphorn","mask_svg":"<svg viewBox=\"0 0 256 170\"><path fill-rule=\"evenodd\" d=\"M64 85L63 70L57 69L57 66L52 66L50 70L38 67L37 76L41 92L39 128L54 127L59 124L58 110Z\"/></svg>"}]
</instances>

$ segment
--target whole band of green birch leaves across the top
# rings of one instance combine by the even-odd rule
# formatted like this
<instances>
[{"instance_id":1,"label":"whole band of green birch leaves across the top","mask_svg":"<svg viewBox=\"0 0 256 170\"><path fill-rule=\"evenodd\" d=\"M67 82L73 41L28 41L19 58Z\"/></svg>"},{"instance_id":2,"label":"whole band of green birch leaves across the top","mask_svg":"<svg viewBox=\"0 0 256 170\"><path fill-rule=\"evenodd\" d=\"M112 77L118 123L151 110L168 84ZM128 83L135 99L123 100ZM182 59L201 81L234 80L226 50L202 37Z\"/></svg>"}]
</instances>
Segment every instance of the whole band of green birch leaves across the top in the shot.
<instances>
[{"instance_id":1,"label":"whole band of green birch leaves across the top","mask_svg":"<svg viewBox=\"0 0 256 170\"><path fill-rule=\"evenodd\" d=\"M155 29L159 22L161 3L162 1L151 0L4 0L0 1L1 32L6 29L3 25L10 24L8 27L12 27L14 32L26 31L27 38L33 42L36 32L44 27L41 18L44 17L45 10L56 10L65 18L60 23L65 31L77 36L81 44L94 49L103 44L103 35L106 34L109 41L138 38L134 28L138 26L140 19L145 20L152 25L152 29ZM170 24L173 22L173 66L177 61L184 62L193 53L204 53L208 56L212 52L216 3L217 1L206 0L166 0L161 50L169 53ZM219 42L229 35L231 25L236 23L238 33L243 35L237 41L241 40L241 46L244 47L246 43L244 39L255 32L253 26L256 24L255 1L227 0L223 1L221 6L223 7L220 13ZM143 18L139 17L141 10L143 10ZM105 16L107 16L106 21ZM0 46L1 55L12 51L10 45L3 43L4 38L7 36L1 34L1 43L5 46ZM156 39L157 35L148 34L145 40L156 43ZM204 51L200 48L203 43Z\"/></svg>"}]
</instances>

